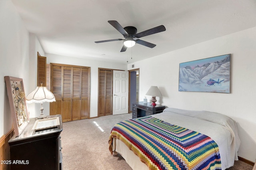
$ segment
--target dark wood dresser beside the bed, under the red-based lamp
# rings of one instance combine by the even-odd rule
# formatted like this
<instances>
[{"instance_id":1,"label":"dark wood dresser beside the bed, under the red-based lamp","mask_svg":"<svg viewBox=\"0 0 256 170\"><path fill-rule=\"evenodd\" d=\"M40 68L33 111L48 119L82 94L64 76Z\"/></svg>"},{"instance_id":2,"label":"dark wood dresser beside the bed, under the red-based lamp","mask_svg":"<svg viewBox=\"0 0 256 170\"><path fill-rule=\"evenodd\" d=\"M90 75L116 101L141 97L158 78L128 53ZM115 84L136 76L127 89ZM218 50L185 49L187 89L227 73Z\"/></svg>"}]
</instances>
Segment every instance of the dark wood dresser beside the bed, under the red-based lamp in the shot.
<instances>
[{"instance_id":1,"label":"dark wood dresser beside the bed, under the red-based lamp","mask_svg":"<svg viewBox=\"0 0 256 170\"><path fill-rule=\"evenodd\" d=\"M143 101L132 103L132 119L162 113L164 109L165 106L152 106L151 103L143 103Z\"/></svg>"}]
</instances>

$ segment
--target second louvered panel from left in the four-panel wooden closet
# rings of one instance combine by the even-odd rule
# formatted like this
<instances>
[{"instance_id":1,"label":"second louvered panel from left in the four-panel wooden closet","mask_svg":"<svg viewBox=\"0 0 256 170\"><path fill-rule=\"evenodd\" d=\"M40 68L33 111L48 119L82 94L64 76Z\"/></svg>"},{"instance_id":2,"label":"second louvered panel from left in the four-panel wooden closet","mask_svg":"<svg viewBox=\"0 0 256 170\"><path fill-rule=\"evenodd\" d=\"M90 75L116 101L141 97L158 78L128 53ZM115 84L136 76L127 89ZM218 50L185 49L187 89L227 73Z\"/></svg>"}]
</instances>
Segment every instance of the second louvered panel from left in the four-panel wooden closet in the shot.
<instances>
[{"instance_id":1,"label":"second louvered panel from left in the four-panel wooden closet","mask_svg":"<svg viewBox=\"0 0 256 170\"><path fill-rule=\"evenodd\" d=\"M63 67L63 103L62 103L62 121L71 121L71 97L72 97L72 67Z\"/></svg>"}]
</instances>

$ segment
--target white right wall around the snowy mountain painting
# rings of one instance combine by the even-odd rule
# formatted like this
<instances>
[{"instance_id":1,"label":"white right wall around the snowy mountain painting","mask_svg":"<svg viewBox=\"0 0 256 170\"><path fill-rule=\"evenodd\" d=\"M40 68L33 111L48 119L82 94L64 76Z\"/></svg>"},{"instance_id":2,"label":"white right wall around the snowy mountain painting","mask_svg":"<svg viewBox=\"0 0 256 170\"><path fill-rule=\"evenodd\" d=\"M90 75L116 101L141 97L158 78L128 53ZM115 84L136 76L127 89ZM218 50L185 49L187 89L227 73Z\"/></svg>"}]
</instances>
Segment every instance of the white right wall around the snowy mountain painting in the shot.
<instances>
[{"instance_id":1,"label":"white right wall around the snowy mountain painting","mask_svg":"<svg viewBox=\"0 0 256 170\"><path fill-rule=\"evenodd\" d=\"M231 53L231 93L179 92L179 63ZM256 159L256 27L127 65L140 68L140 101L151 85L158 104L228 115L237 122L238 156ZM150 75L150 76L148 76ZM150 97L148 96L148 101Z\"/></svg>"}]
</instances>

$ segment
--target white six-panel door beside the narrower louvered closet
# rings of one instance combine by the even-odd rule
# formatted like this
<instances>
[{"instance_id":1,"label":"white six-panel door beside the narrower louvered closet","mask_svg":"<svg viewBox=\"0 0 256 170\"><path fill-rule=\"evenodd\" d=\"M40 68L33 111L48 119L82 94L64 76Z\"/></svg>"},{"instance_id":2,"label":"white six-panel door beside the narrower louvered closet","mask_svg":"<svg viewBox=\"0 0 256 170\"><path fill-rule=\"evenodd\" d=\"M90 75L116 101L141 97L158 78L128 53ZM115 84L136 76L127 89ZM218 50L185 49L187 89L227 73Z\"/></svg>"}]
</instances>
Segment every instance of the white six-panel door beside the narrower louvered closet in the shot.
<instances>
[{"instance_id":1,"label":"white six-panel door beside the narrower louvered closet","mask_svg":"<svg viewBox=\"0 0 256 170\"><path fill-rule=\"evenodd\" d=\"M113 71L113 115L128 113L128 71Z\"/></svg>"}]
</instances>

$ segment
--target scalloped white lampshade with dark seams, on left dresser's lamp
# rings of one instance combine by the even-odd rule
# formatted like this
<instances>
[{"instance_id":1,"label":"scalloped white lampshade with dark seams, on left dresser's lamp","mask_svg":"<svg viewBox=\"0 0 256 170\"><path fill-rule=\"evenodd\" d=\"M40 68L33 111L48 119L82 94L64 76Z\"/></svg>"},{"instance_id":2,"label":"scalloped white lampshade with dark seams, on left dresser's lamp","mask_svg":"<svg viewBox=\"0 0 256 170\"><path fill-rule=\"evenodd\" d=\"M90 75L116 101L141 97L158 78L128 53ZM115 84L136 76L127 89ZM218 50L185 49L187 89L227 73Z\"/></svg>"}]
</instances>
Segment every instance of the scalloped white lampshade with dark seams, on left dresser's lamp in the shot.
<instances>
[{"instance_id":1,"label":"scalloped white lampshade with dark seams, on left dresser's lamp","mask_svg":"<svg viewBox=\"0 0 256 170\"><path fill-rule=\"evenodd\" d=\"M34 91L28 94L26 97L27 103L44 103L56 101L52 92L50 92L46 87L36 87Z\"/></svg>"}]
</instances>

